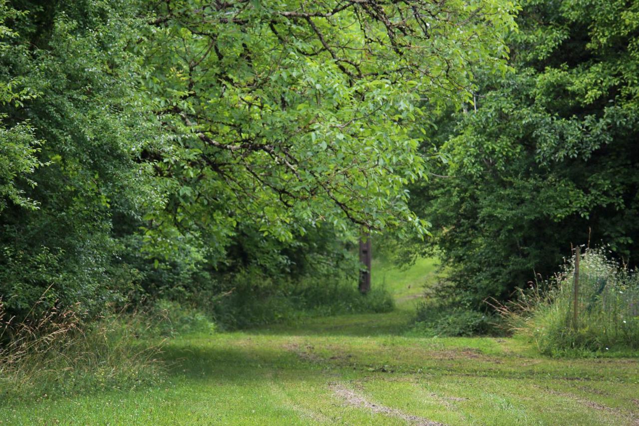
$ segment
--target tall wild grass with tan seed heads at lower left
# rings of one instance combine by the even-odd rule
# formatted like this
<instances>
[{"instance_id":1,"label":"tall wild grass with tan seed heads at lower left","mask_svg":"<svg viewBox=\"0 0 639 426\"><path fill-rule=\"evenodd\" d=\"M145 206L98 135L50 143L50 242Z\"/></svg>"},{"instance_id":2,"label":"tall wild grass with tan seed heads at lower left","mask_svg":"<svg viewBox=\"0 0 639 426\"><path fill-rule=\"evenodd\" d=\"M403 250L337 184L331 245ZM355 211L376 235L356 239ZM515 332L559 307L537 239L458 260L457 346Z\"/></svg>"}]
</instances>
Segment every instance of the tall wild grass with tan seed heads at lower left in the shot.
<instances>
[{"instance_id":1,"label":"tall wild grass with tan seed heads at lower left","mask_svg":"<svg viewBox=\"0 0 639 426\"><path fill-rule=\"evenodd\" d=\"M143 315L109 315L83 324L77 312L56 308L22 322L0 303L0 401L132 389L158 381L161 343L142 338Z\"/></svg>"}]
</instances>

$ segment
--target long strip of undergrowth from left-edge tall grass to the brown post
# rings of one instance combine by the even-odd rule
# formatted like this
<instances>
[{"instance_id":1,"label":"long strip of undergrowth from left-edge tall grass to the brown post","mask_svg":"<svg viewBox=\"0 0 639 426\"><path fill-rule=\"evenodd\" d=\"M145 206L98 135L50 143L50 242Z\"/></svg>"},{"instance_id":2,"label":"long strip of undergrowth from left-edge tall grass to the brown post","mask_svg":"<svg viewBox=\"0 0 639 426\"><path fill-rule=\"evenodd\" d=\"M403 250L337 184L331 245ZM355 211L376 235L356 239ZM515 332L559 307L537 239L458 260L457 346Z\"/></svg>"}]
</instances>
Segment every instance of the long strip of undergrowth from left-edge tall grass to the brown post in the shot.
<instances>
[{"instance_id":1,"label":"long strip of undergrowth from left-edge tall grass to the brown post","mask_svg":"<svg viewBox=\"0 0 639 426\"><path fill-rule=\"evenodd\" d=\"M143 311L121 307L91 320L79 312L80 304L58 310L38 302L17 321L0 303L0 400L162 383L164 340L194 332L213 335L217 324L238 328L394 308L383 288L363 295L355 284L336 279L267 280L273 278L250 272L230 281L232 287L222 294L192 294L182 303L159 299Z\"/></svg>"}]
</instances>

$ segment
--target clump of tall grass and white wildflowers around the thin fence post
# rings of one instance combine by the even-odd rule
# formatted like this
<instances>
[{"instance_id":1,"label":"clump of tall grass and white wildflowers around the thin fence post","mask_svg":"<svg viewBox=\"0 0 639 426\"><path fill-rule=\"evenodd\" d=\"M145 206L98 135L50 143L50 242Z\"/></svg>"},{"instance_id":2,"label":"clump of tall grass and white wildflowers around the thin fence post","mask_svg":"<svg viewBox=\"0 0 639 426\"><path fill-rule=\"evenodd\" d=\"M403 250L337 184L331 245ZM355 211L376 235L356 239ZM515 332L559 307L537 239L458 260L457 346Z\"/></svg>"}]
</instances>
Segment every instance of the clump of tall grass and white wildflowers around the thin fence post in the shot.
<instances>
[{"instance_id":1,"label":"clump of tall grass and white wildflowers around the thin fence post","mask_svg":"<svg viewBox=\"0 0 639 426\"><path fill-rule=\"evenodd\" d=\"M521 290L517 301L498 305L498 312L546 354L639 349L638 272L610 260L603 249L587 249L576 300L574 281L573 258L544 290Z\"/></svg>"}]
</instances>

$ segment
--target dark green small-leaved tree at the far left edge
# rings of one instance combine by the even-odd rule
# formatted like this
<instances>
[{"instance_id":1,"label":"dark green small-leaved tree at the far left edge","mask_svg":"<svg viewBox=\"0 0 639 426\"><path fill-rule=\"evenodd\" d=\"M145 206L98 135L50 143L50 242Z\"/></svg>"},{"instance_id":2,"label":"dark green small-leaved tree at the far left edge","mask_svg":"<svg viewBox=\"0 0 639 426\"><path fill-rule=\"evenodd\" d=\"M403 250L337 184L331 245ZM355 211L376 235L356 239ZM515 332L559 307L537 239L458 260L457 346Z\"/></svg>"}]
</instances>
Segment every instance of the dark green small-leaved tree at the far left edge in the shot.
<instances>
[{"instance_id":1,"label":"dark green small-leaved tree at the far left edge","mask_svg":"<svg viewBox=\"0 0 639 426\"><path fill-rule=\"evenodd\" d=\"M98 312L134 277L112 221L160 197L139 159L158 126L128 49L146 21L128 3L2 2L0 297L18 317L41 298Z\"/></svg>"}]
</instances>

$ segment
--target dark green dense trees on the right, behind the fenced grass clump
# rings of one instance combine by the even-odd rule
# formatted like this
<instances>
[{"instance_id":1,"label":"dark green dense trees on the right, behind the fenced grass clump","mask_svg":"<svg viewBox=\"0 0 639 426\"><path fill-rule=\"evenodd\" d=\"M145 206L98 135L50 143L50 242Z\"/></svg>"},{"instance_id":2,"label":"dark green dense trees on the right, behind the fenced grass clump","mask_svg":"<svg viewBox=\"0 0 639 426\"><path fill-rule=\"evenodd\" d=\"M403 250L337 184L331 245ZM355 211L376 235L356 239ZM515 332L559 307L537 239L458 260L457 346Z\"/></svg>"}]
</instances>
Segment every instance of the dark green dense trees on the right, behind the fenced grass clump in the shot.
<instances>
[{"instance_id":1,"label":"dark green dense trees on the right, behind the fenced grass clump","mask_svg":"<svg viewBox=\"0 0 639 426\"><path fill-rule=\"evenodd\" d=\"M514 72L440 116L423 146L442 166L413 197L452 266L446 293L471 306L548 278L571 245L631 264L639 248L638 4L523 3Z\"/></svg>"}]
</instances>

